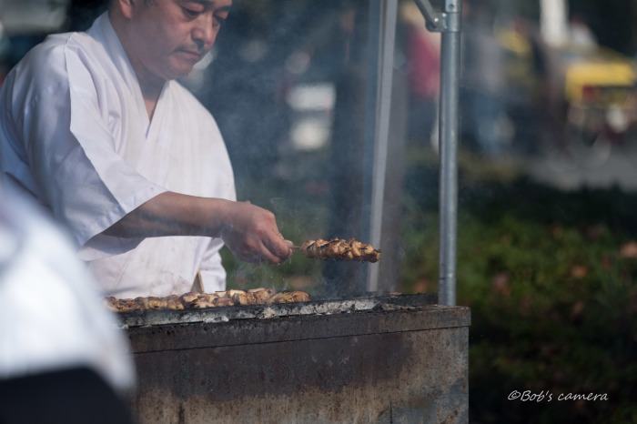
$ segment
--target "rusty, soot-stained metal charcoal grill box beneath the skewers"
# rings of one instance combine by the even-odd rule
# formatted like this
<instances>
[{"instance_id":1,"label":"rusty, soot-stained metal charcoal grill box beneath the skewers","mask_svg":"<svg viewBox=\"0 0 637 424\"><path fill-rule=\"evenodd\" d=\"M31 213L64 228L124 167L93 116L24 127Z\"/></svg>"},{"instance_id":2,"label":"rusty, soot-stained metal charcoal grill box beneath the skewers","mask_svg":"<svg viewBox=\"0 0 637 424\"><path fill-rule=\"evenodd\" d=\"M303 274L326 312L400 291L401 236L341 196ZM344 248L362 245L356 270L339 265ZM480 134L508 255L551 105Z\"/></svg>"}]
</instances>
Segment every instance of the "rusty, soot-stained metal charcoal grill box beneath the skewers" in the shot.
<instances>
[{"instance_id":1,"label":"rusty, soot-stained metal charcoal grill box beneath the skewers","mask_svg":"<svg viewBox=\"0 0 637 424\"><path fill-rule=\"evenodd\" d=\"M469 308L436 295L121 316L140 423L467 422Z\"/></svg>"}]
</instances>

